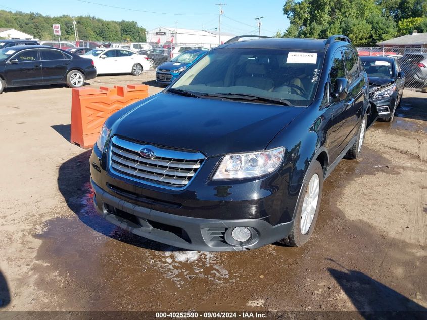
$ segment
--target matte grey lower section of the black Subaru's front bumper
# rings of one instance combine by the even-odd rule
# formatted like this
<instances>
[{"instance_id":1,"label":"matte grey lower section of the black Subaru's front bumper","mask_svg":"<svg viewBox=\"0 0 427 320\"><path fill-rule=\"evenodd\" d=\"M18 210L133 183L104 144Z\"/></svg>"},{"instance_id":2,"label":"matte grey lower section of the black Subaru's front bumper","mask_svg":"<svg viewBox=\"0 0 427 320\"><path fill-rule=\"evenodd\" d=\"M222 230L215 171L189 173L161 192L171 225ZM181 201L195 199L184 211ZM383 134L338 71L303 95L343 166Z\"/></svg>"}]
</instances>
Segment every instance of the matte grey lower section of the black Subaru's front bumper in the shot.
<instances>
[{"instance_id":1,"label":"matte grey lower section of the black Subaru's front bumper","mask_svg":"<svg viewBox=\"0 0 427 320\"><path fill-rule=\"evenodd\" d=\"M217 220L168 214L125 202L105 192L90 180L94 206L107 221L136 235L178 248L200 251L241 251L255 249L284 238L292 223L271 225L262 219ZM227 243L234 227L253 231L246 243ZM232 240L232 239L231 239Z\"/></svg>"}]
</instances>

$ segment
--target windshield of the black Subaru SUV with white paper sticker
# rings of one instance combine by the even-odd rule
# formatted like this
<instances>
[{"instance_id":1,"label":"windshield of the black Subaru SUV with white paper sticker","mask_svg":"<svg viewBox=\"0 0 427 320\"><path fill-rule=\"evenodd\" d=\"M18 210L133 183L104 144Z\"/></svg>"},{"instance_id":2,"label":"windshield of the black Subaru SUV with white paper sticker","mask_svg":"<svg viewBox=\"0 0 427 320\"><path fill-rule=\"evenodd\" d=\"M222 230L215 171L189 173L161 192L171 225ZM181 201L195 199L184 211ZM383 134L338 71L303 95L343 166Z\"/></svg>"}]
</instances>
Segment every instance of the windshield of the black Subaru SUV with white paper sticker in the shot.
<instances>
[{"instance_id":1,"label":"windshield of the black Subaru SUV with white paper sticker","mask_svg":"<svg viewBox=\"0 0 427 320\"><path fill-rule=\"evenodd\" d=\"M211 50L171 88L197 95L283 99L292 105L307 106L314 99L323 57L323 52L295 49Z\"/></svg>"}]
</instances>

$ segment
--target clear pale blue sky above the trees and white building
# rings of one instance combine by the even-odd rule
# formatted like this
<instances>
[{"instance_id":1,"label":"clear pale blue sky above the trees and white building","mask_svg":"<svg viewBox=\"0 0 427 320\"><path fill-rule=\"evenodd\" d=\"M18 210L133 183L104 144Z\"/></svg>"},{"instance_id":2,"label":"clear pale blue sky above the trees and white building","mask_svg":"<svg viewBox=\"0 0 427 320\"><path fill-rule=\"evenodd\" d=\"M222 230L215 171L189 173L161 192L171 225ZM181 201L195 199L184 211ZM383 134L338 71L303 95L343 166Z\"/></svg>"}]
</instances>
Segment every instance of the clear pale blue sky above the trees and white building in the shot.
<instances>
[{"instance_id":1,"label":"clear pale blue sky above the trees and white building","mask_svg":"<svg viewBox=\"0 0 427 320\"><path fill-rule=\"evenodd\" d=\"M160 26L175 27L178 22L178 28L213 31L219 24L219 6L216 4L220 2L226 4L222 7L222 32L257 34L257 17L264 17L261 19L262 35L272 36L277 30L284 31L289 26L288 19L283 15L284 0L20 0L0 4L0 9L38 12L49 16L90 15L105 20L131 20L147 30Z\"/></svg>"}]
</instances>

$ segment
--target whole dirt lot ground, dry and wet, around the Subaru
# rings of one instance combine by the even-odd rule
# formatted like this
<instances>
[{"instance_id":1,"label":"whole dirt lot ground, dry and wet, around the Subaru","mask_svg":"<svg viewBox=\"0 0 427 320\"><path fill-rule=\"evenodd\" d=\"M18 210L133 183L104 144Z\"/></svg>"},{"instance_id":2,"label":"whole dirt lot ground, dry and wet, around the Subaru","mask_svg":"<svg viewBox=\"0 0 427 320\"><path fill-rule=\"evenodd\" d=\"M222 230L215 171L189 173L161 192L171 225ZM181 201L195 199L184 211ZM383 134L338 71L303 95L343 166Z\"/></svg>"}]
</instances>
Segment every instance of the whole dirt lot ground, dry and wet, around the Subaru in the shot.
<instances>
[{"instance_id":1,"label":"whole dirt lot ground, dry and wet, around the Subaru","mask_svg":"<svg viewBox=\"0 0 427 320\"><path fill-rule=\"evenodd\" d=\"M91 86L147 83L104 76ZM427 94L325 181L300 248L179 251L93 209L88 157L69 143L71 90L0 96L0 310L427 310Z\"/></svg>"}]
</instances>

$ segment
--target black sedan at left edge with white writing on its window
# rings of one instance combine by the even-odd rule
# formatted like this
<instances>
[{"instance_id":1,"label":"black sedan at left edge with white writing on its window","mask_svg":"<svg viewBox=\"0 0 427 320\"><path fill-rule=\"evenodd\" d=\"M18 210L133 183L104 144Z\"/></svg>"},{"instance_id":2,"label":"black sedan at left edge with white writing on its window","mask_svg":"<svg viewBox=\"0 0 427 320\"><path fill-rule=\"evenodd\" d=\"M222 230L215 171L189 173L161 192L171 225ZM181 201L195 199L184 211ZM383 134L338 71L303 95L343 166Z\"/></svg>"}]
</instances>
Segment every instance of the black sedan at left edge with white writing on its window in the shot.
<instances>
[{"instance_id":1,"label":"black sedan at left edge with white writing on its window","mask_svg":"<svg viewBox=\"0 0 427 320\"><path fill-rule=\"evenodd\" d=\"M97 76L90 59L42 45L0 49L0 93L5 87L66 83L81 87Z\"/></svg>"}]
</instances>

